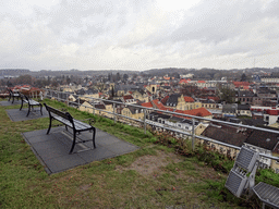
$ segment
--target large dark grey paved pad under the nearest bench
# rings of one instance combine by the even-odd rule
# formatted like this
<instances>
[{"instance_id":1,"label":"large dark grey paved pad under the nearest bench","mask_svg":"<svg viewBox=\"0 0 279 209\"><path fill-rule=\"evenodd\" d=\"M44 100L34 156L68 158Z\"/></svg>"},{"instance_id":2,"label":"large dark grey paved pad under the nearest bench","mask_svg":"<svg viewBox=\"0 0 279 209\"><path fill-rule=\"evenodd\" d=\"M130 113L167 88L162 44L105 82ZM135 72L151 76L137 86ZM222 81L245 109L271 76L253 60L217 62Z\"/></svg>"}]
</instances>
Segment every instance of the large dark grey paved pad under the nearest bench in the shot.
<instances>
[{"instance_id":1,"label":"large dark grey paved pad under the nearest bench","mask_svg":"<svg viewBox=\"0 0 279 209\"><path fill-rule=\"evenodd\" d=\"M37 156L48 174L63 172L93 161L113 158L138 149L130 143L121 140L106 132L97 130L96 148L93 143L76 144L73 153L69 155L72 145L72 133L64 126L52 127L49 135L47 130L23 133L25 142ZM83 132L77 135L80 139L92 138L93 133Z\"/></svg>"}]
</instances>

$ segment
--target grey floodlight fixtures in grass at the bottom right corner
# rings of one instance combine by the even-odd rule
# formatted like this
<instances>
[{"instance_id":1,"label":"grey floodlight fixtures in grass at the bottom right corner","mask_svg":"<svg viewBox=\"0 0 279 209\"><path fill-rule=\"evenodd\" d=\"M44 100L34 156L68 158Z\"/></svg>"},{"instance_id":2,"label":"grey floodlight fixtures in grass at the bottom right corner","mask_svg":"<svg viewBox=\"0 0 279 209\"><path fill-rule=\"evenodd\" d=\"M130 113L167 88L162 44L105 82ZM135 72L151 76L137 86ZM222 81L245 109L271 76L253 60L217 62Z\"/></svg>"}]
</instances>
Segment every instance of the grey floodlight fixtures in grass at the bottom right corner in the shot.
<instances>
[{"instance_id":1,"label":"grey floodlight fixtures in grass at the bottom right corner","mask_svg":"<svg viewBox=\"0 0 279 209\"><path fill-rule=\"evenodd\" d=\"M263 208L279 208L279 188L263 182L255 186L258 159L257 151L242 146L225 186L236 197L245 193L248 197L255 194L262 200Z\"/></svg>"}]
</instances>

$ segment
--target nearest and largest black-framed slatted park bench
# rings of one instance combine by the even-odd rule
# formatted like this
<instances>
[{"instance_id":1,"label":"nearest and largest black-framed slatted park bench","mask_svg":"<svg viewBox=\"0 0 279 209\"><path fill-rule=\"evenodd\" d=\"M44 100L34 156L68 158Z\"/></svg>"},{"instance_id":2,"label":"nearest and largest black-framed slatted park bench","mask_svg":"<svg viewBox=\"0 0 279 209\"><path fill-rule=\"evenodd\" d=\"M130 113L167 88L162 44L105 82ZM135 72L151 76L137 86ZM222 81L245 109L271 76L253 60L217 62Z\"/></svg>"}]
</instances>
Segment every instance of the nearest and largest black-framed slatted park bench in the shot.
<instances>
[{"instance_id":1,"label":"nearest and largest black-framed slatted park bench","mask_svg":"<svg viewBox=\"0 0 279 209\"><path fill-rule=\"evenodd\" d=\"M47 134L49 134L49 132L50 132L52 120L57 120L57 121L61 122L62 124L64 124L66 131L68 131L68 127L71 127L73 130L73 144L72 144L72 147L71 147L71 150L69 153L73 152L75 144L86 143L86 142L90 140L90 139L78 140L76 143L76 134L80 134L81 132L85 132L85 131L93 131L93 139L92 140L93 140L94 148L96 148L96 145L95 145L96 128L94 126L92 126L90 124L84 123L82 121L75 120L69 112L62 112L58 109L47 106L46 103L44 103L44 106L46 107L46 109L49 113L49 127L48 127Z\"/></svg>"}]
</instances>

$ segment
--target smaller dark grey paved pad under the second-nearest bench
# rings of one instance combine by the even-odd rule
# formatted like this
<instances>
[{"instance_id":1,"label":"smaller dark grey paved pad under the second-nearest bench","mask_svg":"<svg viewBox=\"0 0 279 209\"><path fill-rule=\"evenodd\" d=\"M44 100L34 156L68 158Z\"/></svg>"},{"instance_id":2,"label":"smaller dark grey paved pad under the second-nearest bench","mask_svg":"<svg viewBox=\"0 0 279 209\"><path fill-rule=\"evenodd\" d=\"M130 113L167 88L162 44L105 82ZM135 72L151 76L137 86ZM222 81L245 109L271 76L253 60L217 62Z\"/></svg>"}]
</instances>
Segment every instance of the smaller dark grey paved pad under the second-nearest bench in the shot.
<instances>
[{"instance_id":1,"label":"smaller dark grey paved pad under the second-nearest bench","mask_svg":"<svg viewBox=\"0 0 279 209\"><path fill-rule=\"evenodd\" d=\"M27 120L33 120L33 119L40 119L40 118L48 118L48 111L46 110L45 107L43 107L43 115L40 114L40 108L39 107L35 107L34 110L31 110L31 113L28 116L26 116L28 109L27 108L23 108L22 110L19 109L10 109L10 110L5 110L9 118L11 119L11 121L13 122L17 122L17 121L27 121Z\"/></svg>"}]
</instances>

